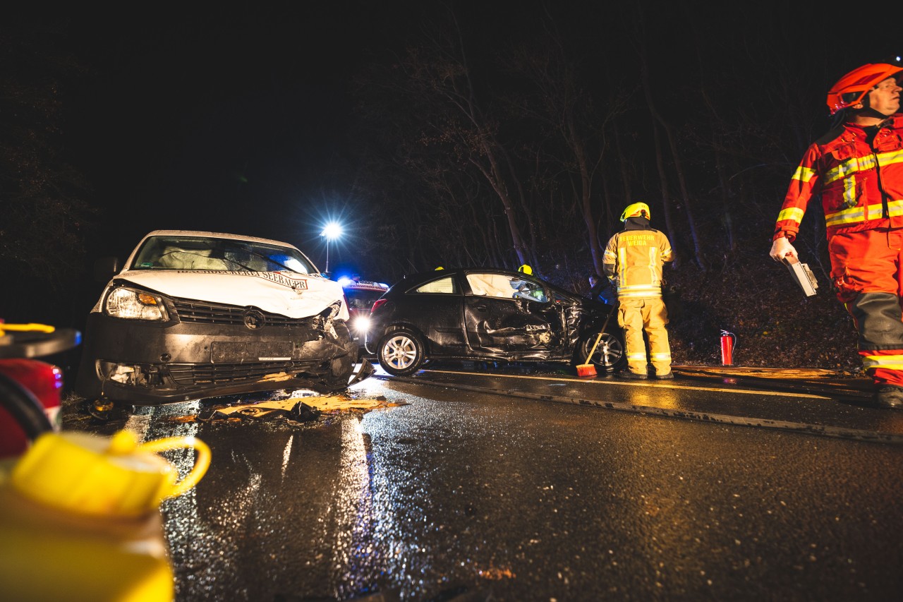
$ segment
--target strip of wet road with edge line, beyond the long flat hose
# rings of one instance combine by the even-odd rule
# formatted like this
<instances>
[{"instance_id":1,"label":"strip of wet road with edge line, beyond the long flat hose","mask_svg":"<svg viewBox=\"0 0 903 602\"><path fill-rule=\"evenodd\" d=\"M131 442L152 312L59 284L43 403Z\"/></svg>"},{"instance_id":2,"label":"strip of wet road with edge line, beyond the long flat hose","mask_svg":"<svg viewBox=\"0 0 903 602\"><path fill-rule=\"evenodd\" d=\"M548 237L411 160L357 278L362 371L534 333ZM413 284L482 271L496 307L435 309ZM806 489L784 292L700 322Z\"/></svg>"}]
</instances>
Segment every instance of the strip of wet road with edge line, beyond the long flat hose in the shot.
<instances>
[{"instance_id":1,"label":"strip of wet road with edge line, beyond the long flat hose","mask_svg":"<svg viewBox=\"0 0 903 602\"><path fill-rule=\"evenodd\" d=\"M812 374L797 374L800 371L772 371L764 378L728 378L712 370L708 376L700 376L701 370L683 367L675 372L678 378L666 383L623 381L613 376L583 380L534 371L512 374L460 369L425 370L414 377L393 380L667 418L903 444L903 413L870 408L870 384L861 379L826 379L819 374L814 380ZM376 378L388 377L377 373Z\"/></svg>"}]
</instances>

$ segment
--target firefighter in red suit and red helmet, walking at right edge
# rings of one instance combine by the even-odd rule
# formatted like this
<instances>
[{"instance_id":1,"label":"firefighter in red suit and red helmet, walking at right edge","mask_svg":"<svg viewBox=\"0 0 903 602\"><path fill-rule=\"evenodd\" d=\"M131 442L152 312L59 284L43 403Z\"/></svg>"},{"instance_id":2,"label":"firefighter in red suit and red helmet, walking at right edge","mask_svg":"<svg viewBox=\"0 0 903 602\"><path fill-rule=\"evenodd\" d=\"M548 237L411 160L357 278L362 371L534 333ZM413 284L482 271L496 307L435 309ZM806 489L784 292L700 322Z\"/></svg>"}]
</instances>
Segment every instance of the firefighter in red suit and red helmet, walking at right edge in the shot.
<instances>
[{"instance_id":1,"label":"firefighter in red suit and red helmet, walking at right edge","mask_svg":"<svg viewBox=\"0 0 903 602\"><path fill-rule=\"evenodd\" d=\"M870 63L828 92L836 127L806 150L777 215L772 259L791 244L806 206L821 195L837 298L859 332L875 403L903 409L903 64ZM797 258L798 259L798 258Z\"/></svg>"}]
</instances>

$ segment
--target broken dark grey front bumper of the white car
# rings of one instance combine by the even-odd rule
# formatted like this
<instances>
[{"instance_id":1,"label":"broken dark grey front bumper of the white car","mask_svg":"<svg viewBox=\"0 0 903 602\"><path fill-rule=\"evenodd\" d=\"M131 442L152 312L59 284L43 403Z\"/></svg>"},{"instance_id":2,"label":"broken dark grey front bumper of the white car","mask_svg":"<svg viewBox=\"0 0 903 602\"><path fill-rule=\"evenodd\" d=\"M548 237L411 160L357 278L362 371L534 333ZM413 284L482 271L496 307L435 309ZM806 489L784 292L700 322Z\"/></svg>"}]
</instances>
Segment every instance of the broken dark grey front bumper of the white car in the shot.
<instances>
[{"instance_id":1,"label":"broken dark grey front bumper of the white car","mask_svg":"<svg viewBox=\"0 0 903 602\"><path fill-rule=\"evenodd\" d=\"M334 326L334 327L333 327ZM340 390L367 378L343 323L278 326L149 323L88 316L75 391L88 399L158 405L266 390ZM349 380L341 378L349 374Z\"/></svg>"}]
</instances>

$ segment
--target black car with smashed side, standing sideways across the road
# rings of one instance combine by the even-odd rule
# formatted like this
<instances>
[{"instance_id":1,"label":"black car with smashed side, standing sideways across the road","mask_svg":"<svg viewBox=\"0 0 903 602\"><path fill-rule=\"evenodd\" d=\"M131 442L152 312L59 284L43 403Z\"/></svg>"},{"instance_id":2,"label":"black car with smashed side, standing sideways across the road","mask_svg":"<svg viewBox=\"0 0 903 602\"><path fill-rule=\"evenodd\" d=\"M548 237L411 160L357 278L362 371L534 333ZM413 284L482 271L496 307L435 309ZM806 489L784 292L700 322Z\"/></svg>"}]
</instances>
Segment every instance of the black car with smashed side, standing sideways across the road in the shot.
<instances>
[{"instance_id":1,"label":"black car with smashed side, standing sideways across the road","mask_svg":"<svg viewBox=\"0 0 903 602\"><path fill-rule=\"evenodd\" d=\"M614 307L521 272L440 269L404 277L370 313L367 351L386 372L405 376L433 359L626 363ZM610 319L609 319L610 317Z\"/></svg>"}]
</instances>

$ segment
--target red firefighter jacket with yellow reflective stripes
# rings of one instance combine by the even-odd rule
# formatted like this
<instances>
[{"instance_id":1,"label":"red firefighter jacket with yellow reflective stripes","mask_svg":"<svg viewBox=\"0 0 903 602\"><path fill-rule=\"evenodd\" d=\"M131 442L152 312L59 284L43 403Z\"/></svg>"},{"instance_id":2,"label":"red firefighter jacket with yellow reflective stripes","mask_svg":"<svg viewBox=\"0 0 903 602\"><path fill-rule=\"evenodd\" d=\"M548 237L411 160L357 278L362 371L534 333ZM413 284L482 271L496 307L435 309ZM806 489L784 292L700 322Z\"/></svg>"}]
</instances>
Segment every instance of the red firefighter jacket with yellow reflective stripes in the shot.
<instances>
[{"instance_id":1,"label":"red firefighter jacket with yellow reflective stripes","mask_svg":"<svg viewBox=\"0 0 903 602\"><path fill-rule=\"evenodd\" d=\"M774 239L796 239L816 194L828 240L841 232L903 228L903 114L876 127L844 124L809 146L777 215Z\"/></svg>"}]
</instances>

